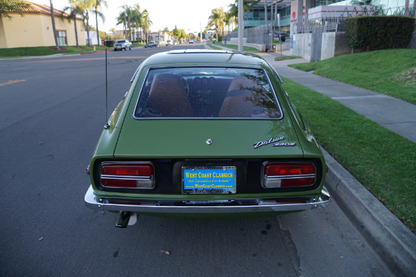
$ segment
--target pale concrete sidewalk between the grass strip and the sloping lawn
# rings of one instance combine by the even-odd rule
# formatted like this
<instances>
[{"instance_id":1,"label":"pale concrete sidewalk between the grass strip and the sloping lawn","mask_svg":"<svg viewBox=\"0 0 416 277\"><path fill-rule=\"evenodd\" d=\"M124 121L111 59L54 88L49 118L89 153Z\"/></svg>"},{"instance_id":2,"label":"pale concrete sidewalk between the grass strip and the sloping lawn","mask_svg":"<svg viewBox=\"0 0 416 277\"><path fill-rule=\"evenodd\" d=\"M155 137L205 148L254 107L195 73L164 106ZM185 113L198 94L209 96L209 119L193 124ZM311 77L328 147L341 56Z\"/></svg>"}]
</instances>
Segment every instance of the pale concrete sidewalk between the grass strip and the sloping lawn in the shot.
<instances>
[{"instance_id":1,"label":"pale concrete sidewalk between the grass strip and the sloping lawn","mask_svg":"<svg viewBox=\"0 0 416 277\"><path fill-rule=\"evenodd\" d=\"M288 64L305 62L303 59L277 62L275 57L280 56L277 53L257 53L257 55L275 67L279 75L284 78L322 93L416 143L416 105L288 66Z\"/></svg>"}]
</instances>

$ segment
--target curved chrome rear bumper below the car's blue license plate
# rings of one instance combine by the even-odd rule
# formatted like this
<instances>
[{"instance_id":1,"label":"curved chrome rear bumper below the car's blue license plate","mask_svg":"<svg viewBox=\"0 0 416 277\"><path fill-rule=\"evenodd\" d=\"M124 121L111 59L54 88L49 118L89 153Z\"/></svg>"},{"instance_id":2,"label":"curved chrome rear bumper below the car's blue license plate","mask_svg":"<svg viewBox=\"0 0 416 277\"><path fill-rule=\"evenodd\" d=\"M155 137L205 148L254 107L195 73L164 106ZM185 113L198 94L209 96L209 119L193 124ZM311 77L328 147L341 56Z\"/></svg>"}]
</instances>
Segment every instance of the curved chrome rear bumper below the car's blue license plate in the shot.
<instances>
[{"instance_id":1,"label":"curved chrome rear bumper below the car's blue license plate","mask_svg":"<svg viewBox=\"0 0 416 277\"><path fill-rule=\"evenodd\" d=\"M136 213L267 213L279 211L305 211L314 208L324 208L328 206L331 197L327 188L322 188L322 193L318 197L311 197L310 202L282 204L277 200L259 199L256 205L239 205L239 206L173 206L172 204L163 204L163 202L143 201L140 204L119 204L112 203L112 199L105 199L96 202L94 190L89 186L85 194L85 206L94 210L101 211L126 211ZM215 205L215 203L214 203Z\"/></svg>"}]
</instances>

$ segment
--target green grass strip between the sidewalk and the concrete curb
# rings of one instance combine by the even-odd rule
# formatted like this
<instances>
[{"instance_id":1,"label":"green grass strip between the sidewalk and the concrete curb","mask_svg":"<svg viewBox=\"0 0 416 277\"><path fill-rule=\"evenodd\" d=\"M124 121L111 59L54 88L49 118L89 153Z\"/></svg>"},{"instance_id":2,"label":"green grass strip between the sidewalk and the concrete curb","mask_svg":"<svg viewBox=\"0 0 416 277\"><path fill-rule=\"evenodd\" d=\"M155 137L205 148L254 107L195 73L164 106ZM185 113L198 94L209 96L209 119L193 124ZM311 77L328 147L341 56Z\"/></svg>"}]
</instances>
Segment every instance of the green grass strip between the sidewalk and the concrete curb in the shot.
<instances>
[{"instance_id":1,"label":"green grass strip between the sidewalk and the concrete curb","mask_svg":"<svg viewBox=\"0 0 416 277\"><path fill-rule=\"evenodd\" d=\"M416 143L327 96L282 79L320 145L416 233Z\"/></svg>"}]
</instances>

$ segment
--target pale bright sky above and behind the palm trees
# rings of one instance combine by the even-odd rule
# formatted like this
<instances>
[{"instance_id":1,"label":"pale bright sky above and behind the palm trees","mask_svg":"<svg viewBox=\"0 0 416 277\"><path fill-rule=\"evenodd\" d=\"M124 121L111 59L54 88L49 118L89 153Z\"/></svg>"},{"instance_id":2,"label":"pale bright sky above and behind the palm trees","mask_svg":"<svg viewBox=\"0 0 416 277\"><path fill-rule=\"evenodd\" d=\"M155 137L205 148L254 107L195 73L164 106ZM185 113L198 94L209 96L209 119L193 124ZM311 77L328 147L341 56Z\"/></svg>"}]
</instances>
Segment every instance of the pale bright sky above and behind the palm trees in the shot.
<instances>
[{"instance_id":1,"label":"pale bright sky above and behind the palm trees","mask_svg":"<svg viewBox=\"0 0 416 277\"><path fill-rule=\"evenodd\" d=\"M30 0L33 3L40 3L50 6L49 0ZM108 32L111 28L122 30L123 26L116 26L116 17L123 10L121 6L135 6L139 3L141 12L148 10L150 21L153 25L150 30L173 30L175 26L178 29L184 29L186 33L200 32L205 29L208 23L208 17L214 8L223 8L225 12L229 10L229 4L234 0L107 0L107 8L101 9L105 16L105 22L98 17L98 30ZM68 0L53 0L53 8L62 10L65 6L69 6ZM90 26L95 26L95 19L91 20L93 14L90 15ZM95 18L95 17L93 17Z\"/></svg>"}]
</instances>

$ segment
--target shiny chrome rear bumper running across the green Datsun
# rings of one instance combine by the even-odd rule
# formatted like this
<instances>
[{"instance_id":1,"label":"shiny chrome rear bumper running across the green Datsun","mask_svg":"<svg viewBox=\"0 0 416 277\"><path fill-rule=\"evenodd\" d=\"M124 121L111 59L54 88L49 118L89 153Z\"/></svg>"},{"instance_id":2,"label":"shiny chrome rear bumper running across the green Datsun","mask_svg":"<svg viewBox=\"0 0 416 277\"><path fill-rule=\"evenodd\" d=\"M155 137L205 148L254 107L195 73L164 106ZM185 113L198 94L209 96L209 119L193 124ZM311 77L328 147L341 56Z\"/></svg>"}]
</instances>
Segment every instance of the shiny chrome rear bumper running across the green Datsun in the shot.
<instances>
[{"instance_id":1,"label":"shiny chrome rear bumper running across the green Datsun","mask_svg":"<svg viewBox=\"0 0 416 277\"><path fill-rule=\"evenodd\" d=\"M327 188L323 187L320 195L308 197L302 202L288 201L285 197L282 202L279 199L236 199L229 200L226 204L221 201L184 201L181 205L173 204L172 201L135 201L120 199L99 199L96 201L94 190L89 186L85 194L85 205L88 208L101 211L126 211L135 213L267 213L284 211L305 211L314 208L328 206L331 197ZM241 204L244 202L248 204ZM177 201L176 201L177 203Z\"/></svg>"}]
</instances>

